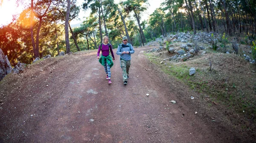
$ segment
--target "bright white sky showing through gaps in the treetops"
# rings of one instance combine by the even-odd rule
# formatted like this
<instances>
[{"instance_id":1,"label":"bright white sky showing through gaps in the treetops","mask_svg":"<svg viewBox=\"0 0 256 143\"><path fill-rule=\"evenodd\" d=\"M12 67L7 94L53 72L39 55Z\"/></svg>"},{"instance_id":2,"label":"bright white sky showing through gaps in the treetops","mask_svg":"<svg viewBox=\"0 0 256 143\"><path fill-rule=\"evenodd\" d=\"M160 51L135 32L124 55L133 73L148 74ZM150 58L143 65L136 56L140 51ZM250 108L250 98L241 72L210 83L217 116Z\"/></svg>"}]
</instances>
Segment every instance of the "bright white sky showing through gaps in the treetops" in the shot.
<instances>
[{"instance_id":1,"label":"bright white sky showing through gaps in the treetops","mask_svg":"<svg viewBox=\"0 0 256 143\"><path fill-rule=\"evenodd\" d=\"M13 14L20 14L22 11L22 7L17 7L15 4L16 0L3 0L2 5L0 5L0 26L7 25L12 22ZM140 21L148 19L149 15L154 12L155 9L160 7L160 3L162 0L148 0L150 4L147 11L144 12L142 19ZM81 6L84 0L77 0L77 5ZM115 0L115 3L118 3L119 0ZM89 16L90 11L80 10L79 18L80 20L72 20L70 24L77 24L83 21L83 17Z\"/></svg>"}]
</instances>

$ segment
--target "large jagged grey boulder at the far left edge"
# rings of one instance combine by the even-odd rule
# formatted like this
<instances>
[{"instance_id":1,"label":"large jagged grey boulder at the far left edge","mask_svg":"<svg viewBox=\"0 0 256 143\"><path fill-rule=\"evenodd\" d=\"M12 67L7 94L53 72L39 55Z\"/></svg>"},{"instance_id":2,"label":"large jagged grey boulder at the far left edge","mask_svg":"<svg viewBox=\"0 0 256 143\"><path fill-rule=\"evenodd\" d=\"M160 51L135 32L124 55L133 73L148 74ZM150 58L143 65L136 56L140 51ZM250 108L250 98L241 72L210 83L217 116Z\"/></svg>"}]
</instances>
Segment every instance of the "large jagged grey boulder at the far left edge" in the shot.
<instances>
[{"instance_id":1,"label":"large jagged grey boulder at the far left edge","mask_svg":"<svg viewBox=\"0 0 256 143\"><path fill-rule=\"evenodd\" d=\"M12 72L12 66L8 60L7 55L5 56L3 54L2 49L0 49L0 81L3 79L3 77L6 76L6 74L9 74Z\"/></svg>"}]
</instances>

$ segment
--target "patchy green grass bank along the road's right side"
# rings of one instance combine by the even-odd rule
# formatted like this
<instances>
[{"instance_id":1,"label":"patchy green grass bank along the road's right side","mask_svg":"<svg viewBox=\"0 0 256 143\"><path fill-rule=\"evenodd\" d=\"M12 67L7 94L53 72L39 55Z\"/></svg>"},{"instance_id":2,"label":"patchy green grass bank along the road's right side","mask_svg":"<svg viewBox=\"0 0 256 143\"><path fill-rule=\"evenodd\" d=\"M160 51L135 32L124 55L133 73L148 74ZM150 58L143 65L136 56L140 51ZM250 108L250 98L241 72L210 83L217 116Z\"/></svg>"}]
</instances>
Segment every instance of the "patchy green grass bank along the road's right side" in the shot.
<instances>
[{"instance_id":1,"label":"patchy green grass bank along the road's right side","mask_svg":"<svg viewBox=\"0 0 256 143\"><path fill-rule=\"evenodd\" d=\"M212 53L216 54L216 51ZM244 79L245 77L242 75L234 75L230 70L225 72L219 70L210 71L209 67L207 67L208 63L202 60L196 60L195 63L196 65L205 65L205 67L202 69L195 68L196 74L190 76L189 69L192 65L186 64L186 62L178 64L169 61L162 62L163 60L153 53L146 53L145 55L152 63L159 66L164 73L183 82L190 89L208 95L211 97L210 100L215 103L220 103L223 107L232 109L236 114L244 114L246 112L248 116L253 114L256 116L256 96L254 95L256 93L256 83L254 82L254 86L250 85L252 83L244 83L244 80L252 80L250 77ZM224 60L229 61L229 59ZM253 87L248 88L247 86ZM212 106L212 104L208 106ZM256 122L256 117L253 118L253 121Z\"/></svg>"}]
</instances>

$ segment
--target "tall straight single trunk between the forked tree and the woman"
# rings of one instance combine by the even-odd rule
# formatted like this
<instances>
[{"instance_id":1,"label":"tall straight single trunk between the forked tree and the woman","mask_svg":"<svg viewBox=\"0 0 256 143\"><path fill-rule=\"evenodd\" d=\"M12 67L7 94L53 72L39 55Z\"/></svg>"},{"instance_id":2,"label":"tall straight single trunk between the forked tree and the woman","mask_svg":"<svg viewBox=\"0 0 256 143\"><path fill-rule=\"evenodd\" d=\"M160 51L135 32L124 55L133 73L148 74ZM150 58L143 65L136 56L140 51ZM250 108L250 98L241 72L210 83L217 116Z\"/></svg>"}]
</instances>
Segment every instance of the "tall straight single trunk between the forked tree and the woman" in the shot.
<instances>
[{"instance_id":1,"label":"tall straight single trunk between the forked tree and the woman","mask_svg":"<svg viewBox=\"0 0 256 143\"><path fill-rule=\"evenodd\" d=\"M70 15L70 0L67 0L67 13L65 17L65 41L66 41L66 53L70 53L70 42L69 42L69 33L68 33L68 20Z\"/></svg>"}]
</instances>

